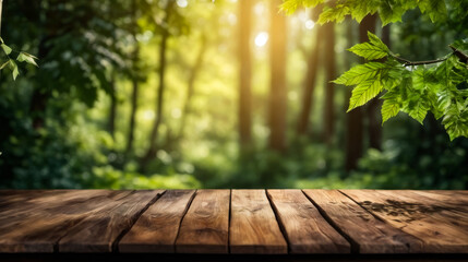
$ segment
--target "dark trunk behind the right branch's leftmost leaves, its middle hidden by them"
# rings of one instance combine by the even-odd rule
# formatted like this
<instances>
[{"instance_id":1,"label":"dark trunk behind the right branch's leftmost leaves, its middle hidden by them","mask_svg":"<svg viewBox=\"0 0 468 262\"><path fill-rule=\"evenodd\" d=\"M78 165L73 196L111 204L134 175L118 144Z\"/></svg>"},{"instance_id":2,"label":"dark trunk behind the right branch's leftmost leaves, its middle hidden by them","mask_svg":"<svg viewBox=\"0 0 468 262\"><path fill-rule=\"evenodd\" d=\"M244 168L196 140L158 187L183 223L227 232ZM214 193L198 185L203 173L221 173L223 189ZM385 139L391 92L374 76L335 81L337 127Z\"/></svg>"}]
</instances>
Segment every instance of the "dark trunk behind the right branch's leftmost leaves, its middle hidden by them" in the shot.
<instances>
[{"instance_id":1,"label":"dark trunk behind the right branch's leftmost leaves, its middle hidden by them","mask_svg":"<svg viewBox=\"0 0 468 262\"><path fill-rule=\"evenodd\" d=\"M365 16L359 24L359 41L368 41L368 31L375 31L375 15ZM347 99L349 103L349 99ZM357 167L359 158L363 152L363 123L362 108L358 107L348 115L347 135L346 135L346 170L352 170Z\"/></svg>"}]
</instances>

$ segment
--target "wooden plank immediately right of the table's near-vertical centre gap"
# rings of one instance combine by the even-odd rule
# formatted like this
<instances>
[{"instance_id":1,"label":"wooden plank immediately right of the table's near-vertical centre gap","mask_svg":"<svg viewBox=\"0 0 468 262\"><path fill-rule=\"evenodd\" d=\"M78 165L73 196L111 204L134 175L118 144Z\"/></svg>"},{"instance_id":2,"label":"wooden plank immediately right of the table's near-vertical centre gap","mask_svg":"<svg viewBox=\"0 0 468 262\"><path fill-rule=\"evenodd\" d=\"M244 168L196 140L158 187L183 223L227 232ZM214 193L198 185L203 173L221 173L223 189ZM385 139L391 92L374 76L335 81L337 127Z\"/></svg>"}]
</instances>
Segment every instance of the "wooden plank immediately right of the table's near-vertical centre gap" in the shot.
<instances>
[{"instance_id":1,"label":"wooden plank immediately right of the table's near-vertical centre gap","mask_svg":"<svg viewBox=\"0 0 468 262\"><path fill-rule=\"evenodd\" d=\"M232 190L229 228L231 253L287 253L265 190Z\"/></svg>"}]
</instances>

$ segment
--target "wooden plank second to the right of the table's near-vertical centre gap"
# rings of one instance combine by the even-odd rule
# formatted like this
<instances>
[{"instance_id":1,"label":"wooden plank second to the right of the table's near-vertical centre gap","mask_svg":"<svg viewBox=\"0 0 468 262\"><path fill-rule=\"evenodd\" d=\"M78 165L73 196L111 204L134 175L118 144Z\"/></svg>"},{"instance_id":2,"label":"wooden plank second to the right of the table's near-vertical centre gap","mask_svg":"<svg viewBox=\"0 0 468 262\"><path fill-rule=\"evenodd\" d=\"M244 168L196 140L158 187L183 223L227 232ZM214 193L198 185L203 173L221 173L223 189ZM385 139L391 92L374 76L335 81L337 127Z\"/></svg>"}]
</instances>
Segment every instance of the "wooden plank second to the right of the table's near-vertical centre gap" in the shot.
<instances>
[{"instance_id":1,"label":"wooden plank second to the right of the table's near-vertical centre gap","mask_svg":"<svg viewBox=\"0 0 468 262\"><path fill-rule=\"evenodd\" d=\"M291 253L349 253L350 243L300 190L267 190Z\"/></svg>"}]
</instances>

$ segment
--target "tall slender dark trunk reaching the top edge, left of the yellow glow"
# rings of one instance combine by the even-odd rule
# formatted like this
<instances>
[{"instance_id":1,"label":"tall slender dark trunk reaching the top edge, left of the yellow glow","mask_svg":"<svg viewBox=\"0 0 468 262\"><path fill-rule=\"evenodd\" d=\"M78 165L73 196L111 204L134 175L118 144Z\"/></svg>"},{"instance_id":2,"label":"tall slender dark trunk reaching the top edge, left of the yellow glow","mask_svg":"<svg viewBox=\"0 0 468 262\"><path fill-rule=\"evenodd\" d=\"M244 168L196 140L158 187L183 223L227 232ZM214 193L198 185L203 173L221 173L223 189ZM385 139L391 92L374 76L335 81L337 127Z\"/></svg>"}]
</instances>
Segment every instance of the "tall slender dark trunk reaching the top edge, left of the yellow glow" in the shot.
<instances>
[{"instance_id":1,"label":"tall slender dark trunk reaching the top edge, left of the yellow glow","mask_svg":"<svg viewBox=\"0 0 468 262\"><path fill-rule=\"evenodd\" d=\"M172 11L172 7L175 4L176 1L168 1L165 12L166 12L166 16L164 17L164 22L161 24L167 24L167 22L169 21L169 15ZM149 135L149 147L146 151L145 156L142 158L141 162L141 168L143 170L146 169L147 164L149 163L151 159L153 159L156 156L156 144L157 144L157 139L158 139L158 131L159 131L159 126L163 122L163 109L164 109L164 94L165 94L165 74L166 74L166 47L167 47L167 40L169 39L169 28L163 28L161 32L161 39L160 39L160 45L159 45L159 67L157 70L157 73L159 75L159 83L158 83L158 87L157 93L156 93L156 104L155 104L155 121L153 123L153 129Z\"/></svg>"}]
</instances>

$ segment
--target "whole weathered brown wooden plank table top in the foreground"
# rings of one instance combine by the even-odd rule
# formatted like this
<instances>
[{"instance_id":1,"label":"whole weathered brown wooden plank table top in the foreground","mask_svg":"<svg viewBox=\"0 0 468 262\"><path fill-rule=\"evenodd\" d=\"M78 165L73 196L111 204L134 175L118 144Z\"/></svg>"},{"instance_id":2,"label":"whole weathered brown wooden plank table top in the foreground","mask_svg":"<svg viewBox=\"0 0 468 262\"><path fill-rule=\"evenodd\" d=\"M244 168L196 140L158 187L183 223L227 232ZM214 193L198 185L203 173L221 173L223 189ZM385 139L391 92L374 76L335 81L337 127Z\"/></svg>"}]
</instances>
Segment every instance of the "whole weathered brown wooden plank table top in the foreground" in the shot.
<instances>
[{"instance_id":1,"label":"whole weathered brown wooden plank table top in the foreground","mask_svg":"<svg viewBox=\"0 0 468 262\"><path fill-rule=\"evenodd\" d=\"M468 253L468 191L1 190L0 253Z\"/></svg>"}]
</instances>

